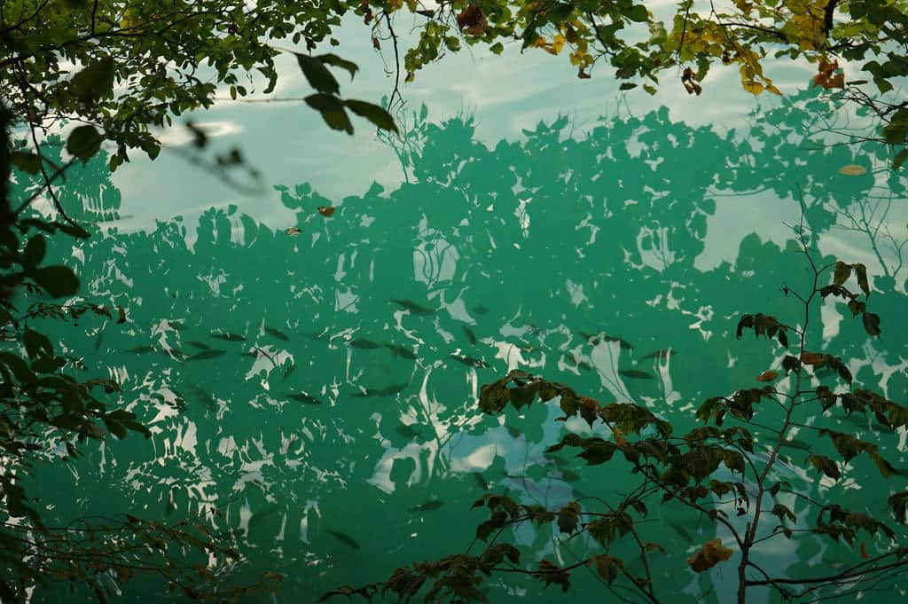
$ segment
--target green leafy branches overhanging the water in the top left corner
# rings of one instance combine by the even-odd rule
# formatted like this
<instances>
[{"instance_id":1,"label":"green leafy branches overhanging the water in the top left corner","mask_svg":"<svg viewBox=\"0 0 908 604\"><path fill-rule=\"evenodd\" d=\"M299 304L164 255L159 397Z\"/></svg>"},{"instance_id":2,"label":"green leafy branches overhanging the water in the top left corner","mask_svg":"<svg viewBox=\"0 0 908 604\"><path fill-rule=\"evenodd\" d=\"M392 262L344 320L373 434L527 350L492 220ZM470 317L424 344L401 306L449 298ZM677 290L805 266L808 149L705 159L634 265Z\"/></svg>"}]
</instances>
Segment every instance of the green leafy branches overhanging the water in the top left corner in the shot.
<instances>
[{"instance_id":1,"label":"green leafy branches overhanging the water in the top left corner","mask_svg":"<svg viewBox=\"0 0 908 604\"><path fill-rule=\"evenodd\" d=\"M76 126L66 151L74 159L87 161L105 141L115 147L111 170L129 161L131 149L154 159L161 144L153 127L171 126L174 116L210 107L218 85L229 86L233 99L252 94L256 85L271 93L278 79L274 58L281 53L271 41L289 37L311 52L347 10L341 1L5 2L0 99L31 129L34 146L15 150L10 159L25 172L41 172L49 185L61 166L42 152L40 138L69 121ZM305 102L332 128L352 133L349 110L378 128L395 130L380 106L338 95L328 66L346 69L352 78L355 64L335 54L294 54L317 91ZM196 142L203 139L197 136ZM234 157L233 163L241 161Z\"/></svg>"}]
</instances>

